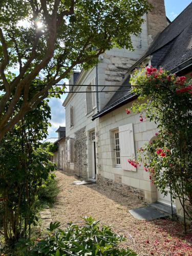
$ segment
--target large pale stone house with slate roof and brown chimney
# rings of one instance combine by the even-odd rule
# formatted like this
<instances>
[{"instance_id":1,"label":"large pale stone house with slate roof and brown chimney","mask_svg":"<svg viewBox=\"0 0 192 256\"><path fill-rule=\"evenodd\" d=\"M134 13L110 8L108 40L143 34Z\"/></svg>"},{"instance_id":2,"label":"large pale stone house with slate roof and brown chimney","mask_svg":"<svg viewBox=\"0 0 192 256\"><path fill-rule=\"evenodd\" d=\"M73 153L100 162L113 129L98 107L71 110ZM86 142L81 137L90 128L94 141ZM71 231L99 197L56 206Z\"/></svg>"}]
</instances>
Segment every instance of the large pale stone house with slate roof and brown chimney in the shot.
<instances>
[{"instance_id":1,"label":"large pale stone house with slate roof and brown chimney","mask_svg":"<svg viewBox=\"0 0 192 256\"><path fill-rule=\"evenodd\" d=\"M129 91L133 70L144 63L178 75L189 75L192 71L192 4L169 25L164 1L153 1L153 5L152 12L144 15L141 34L132 37L135 51L114 48L101 55L93 69L83 70L78 76L73 73L71 93L63 106L66 136L81 145L83 178L94 179L124 194L132 190L146 202L170 205L170 195L163 197L142 167L136 169L127 163L129 157L136 155L137 148L152 141L157 132L155 123L147 119L140 122L137 114L125 112L137 100ZM67 139L67 152L72 157L67 157L66 169L76 174L78 143ZM179 212L177 200L174 206Z\"/></svg>"}]
</instances>

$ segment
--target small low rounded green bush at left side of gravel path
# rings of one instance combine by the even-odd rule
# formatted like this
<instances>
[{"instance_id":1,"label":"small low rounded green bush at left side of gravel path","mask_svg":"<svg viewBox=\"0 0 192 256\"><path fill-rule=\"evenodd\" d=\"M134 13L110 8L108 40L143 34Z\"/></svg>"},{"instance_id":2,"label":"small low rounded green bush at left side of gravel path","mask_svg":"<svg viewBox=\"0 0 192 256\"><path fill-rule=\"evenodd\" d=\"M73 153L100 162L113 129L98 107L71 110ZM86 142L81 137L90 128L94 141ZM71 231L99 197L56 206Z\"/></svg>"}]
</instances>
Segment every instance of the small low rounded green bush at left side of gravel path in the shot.
<instances>
[{"instance_id":1,"label":"small low rounded green bush at left side of gravel path","mask_svg":"<svg viewBox=\"0 0 192 256\"><path fill-rule=\"evenodd\" d=\"M59 194L58 181L54 174L50 174L38 190L38 198L41 202L53 204Z\"/></svg>"}]
</instances>

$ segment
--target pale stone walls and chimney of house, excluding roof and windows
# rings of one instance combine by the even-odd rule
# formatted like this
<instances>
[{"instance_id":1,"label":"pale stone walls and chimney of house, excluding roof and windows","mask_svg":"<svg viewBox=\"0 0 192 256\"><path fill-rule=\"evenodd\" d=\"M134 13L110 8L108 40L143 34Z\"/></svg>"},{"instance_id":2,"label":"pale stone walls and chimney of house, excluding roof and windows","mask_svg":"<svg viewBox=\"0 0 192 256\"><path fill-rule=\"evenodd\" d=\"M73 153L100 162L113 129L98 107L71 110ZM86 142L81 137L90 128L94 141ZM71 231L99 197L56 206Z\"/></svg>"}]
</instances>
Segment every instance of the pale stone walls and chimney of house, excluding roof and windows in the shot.
<instances>
[{"instance_id":1,"label":"pale stone walls and chimney of house, excluding roof and windows","mask_svg":"<svg viewBox=\"0 0 192 256\"><path fill-rule=\"evenodd\" d=\"M92 121L92 116L102 110L112 98L115 93L112 91L119 88L117 83L122 81L126 70L145 54L149 43L167 26L167 23L164 23L164 20L166 21L164 1L150 0L150 2L155 8L143 16L145 22L141 26L142 32L138 36L132 35L131 37L135 51L113 48L102 54L96 67L88 71L83 70L80 73L76 80L78 86L73 88L73 91L78 93L69 94L63 102L63 106L66 108L66 137L75 138L82 144L83 178L93 177L93 143L90 140L90 133L94 131L97 182L103 186L109 185L113 189L121 190L123 194L131 190L145 201L155 202L157 201L157 189L155 185L151 184L148 174L143 171L142 166L133 172L114 165L112 133L122 125L133 123L135 151L137 151L137 148L155 136L156 124L148 120L140 122L137 114L127 116L125 108L130 108L131 103ZM103 89L103 91L98 94L97 107L87 113L85 111L86 87L83 85L92 84L93 78L97 78L99 90ZM109 87L104 88L104 86ZM73 126L70 125L71 106L73 106ZM76 144L75 148L77 148ZM67 168L74 174L79 174L77 149L75 150L74 164L68 162Z\"/></svg>"}]
</instances>

